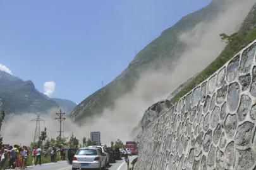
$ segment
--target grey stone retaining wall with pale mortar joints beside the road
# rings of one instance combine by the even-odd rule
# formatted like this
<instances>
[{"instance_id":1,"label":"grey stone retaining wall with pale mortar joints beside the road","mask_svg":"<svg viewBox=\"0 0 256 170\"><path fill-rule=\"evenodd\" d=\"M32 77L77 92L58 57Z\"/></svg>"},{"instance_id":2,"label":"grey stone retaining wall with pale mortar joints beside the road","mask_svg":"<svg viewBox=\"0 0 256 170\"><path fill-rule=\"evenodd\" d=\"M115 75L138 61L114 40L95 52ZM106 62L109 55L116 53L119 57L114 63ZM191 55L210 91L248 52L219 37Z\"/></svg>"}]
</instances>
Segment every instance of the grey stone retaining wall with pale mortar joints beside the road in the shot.
<instances>
[{"instance_id":1,"label":"grey stone retaining wall with pale mortar joints beside the road","mask_svg":"<svg viewBox=\"0 0 256 170\"><path fill-rule=\"evenodd\" d=\"M256 170L256 40L147 125L137 170Z\"/></svg>"}]
</instances>

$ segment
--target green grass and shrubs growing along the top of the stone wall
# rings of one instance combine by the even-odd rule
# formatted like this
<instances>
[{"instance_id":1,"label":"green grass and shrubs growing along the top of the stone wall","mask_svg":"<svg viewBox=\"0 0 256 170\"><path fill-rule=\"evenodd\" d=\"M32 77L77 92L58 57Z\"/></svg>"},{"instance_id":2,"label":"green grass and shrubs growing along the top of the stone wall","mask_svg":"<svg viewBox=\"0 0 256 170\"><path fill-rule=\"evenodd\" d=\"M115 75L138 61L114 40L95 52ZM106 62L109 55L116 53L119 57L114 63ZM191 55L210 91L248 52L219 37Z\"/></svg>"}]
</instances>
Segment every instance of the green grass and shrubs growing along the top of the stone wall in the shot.
<instances>
[{"instance_id":1,"label":"green grass and shrubs growing along the top of the stone wall","mask_svg":"<svg viewBox=\"0 0 256 170\"><path fill-rule=\"evenodd\" d=\"M231 36L221 34L222 40L227 41L227 45L221 54L217 57L214 62L212 62L208 67L204 69L204 71L200 72L193 81L191 81L185 88L183 88L174 98L171 100L172 103L176 103L179 99L188 92L192 91L193 88L198 86L205 79L210 77L214 72L216 72L219 68L221 68L228 60L230 60L234 55L236 55L242 48L247 46L249 43L253 42L256 39L256 28L249 31L247 34L243 33L235 33Z\"/></svg>"}]
</instances>

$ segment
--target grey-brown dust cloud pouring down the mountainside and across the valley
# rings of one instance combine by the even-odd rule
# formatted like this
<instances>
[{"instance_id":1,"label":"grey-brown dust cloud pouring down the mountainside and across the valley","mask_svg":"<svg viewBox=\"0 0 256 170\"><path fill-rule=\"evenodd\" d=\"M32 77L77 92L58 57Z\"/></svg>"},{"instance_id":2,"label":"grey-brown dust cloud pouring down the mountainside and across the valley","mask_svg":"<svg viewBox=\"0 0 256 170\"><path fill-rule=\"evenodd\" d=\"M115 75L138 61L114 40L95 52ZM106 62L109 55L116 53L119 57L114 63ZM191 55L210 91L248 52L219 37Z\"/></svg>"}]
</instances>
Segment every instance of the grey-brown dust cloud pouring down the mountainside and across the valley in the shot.
<instances>
[{"instance_id":1,"label":"grey-brown dust cloud pouring down the mountainside and across the valley","mask_svg":"<svg viewBox=\"0 0 256 170\"><path fill-rule=\"evenodd\" d=\"M106 108L102 116L90 120L90 123L78 126L71 120L64 122L64 135L69 137L73 132L78 139L90 137L91 131L101 131L102 144L110 145L111 141L121 139L133 140L130 132L138 125L144 111L153 103L167 98L180 84L202 71L224 49L220 33L231 34L238 31L242 21L252 8L255 0L227 0L228 8L221 11L211 22L199 23L193 30L180 35L180 42L186 50L180 60L174 64L173 70L163 69L150 71L140 76L135 88L114 101L113 108ZM54 120L56 111L42 115L46 120L48 137L56 137L59 122ZM30 144L35 131L34 114L13 116L4 122L1 135L4 143ZM87 121L88 122L88 121Z\"/></svg>"}]
</instances>

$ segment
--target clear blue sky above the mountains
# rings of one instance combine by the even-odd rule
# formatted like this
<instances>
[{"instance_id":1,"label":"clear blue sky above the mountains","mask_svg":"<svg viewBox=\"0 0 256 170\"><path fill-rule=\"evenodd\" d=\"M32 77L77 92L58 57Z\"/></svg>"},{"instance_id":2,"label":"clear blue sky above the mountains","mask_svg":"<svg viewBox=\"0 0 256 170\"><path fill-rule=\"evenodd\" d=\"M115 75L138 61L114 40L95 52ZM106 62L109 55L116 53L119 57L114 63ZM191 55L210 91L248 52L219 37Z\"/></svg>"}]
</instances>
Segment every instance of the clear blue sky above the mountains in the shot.
<instances>
[{"instance_id":1,"label":"clear blue sky above the mountains","mask_svg":"<svg viewBox=\"0 0 256 170\"><path fill-rule=\"evenodd\" d=\"M52 81L55 89L47 94L80 103L102 81L106 85L118 76L163 30L209 3L0 0L0 64L42 92Z\"/></svg>"}]
</instances>

